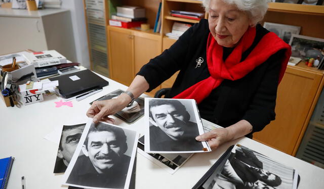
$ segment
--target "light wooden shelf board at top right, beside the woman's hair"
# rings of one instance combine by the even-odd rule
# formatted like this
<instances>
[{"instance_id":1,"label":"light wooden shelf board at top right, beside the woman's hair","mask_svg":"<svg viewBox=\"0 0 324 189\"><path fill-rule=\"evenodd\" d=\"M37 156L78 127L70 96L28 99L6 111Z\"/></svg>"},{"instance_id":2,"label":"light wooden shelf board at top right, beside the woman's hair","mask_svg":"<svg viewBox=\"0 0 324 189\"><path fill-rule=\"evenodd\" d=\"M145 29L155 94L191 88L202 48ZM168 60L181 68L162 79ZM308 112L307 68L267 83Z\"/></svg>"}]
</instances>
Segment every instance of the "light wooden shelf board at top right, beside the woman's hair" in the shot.
<instances>
[{"instance_id":1,"label":"light wooden shelf board at top right, beside the woman's hair","mask_svg":"<svg viewBox=\"0 0 324 189\"><path fill-rule=\"evenodd\" d=\"M324 6L319 6L319 5L269 3L268 11L297 13L297 14L323 15L324 16Z\"/></svg>"}]
</instances>

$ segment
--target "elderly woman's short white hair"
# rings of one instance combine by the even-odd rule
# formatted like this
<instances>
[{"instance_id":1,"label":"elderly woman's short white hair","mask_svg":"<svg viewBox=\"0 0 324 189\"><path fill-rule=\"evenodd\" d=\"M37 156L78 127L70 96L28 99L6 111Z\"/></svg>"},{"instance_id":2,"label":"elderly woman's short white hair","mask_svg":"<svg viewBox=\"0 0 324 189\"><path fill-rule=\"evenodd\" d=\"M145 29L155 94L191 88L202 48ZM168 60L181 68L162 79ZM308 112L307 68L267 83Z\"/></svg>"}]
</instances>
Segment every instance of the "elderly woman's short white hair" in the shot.
<instances>
[{"instance_id":1,"label":"elderly woman's short white hair","mask_svg":"<svg viewBox=\"0 0 324 189\"><path fill-rule=\"evenodd\" d=\"M232 4L240 11L245 11L249 14L249 18L255 26L260 22L268 9L270 0L222 0L224 3ZM209 4L211 0L203 0L203 7L205 11L209 11Z\"/></svg>"}]
</instances>

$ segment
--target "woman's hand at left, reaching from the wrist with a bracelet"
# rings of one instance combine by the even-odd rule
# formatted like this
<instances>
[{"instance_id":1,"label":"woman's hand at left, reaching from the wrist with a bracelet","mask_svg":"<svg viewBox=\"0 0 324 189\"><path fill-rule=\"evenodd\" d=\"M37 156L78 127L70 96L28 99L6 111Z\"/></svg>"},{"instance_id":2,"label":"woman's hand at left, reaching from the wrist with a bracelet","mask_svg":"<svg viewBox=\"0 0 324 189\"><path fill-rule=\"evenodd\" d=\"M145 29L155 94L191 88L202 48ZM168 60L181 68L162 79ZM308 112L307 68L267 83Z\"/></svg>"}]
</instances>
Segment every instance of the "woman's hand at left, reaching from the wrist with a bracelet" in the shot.
<instances>
[{"instance_id":1,"label":"woman's hand at left, reaching from the wrist with a bracelet","mask_svg":"<svg viewBox=\"0 0 324 189\"><path fill-rule=\"evenodd\" d=\"M98 121L113 123L114 119L107 116L113 115L123 108L118 99L95 101L87 111L87 116L93 118L94 123L98 123Z\"/></svg>"}]
</instances>

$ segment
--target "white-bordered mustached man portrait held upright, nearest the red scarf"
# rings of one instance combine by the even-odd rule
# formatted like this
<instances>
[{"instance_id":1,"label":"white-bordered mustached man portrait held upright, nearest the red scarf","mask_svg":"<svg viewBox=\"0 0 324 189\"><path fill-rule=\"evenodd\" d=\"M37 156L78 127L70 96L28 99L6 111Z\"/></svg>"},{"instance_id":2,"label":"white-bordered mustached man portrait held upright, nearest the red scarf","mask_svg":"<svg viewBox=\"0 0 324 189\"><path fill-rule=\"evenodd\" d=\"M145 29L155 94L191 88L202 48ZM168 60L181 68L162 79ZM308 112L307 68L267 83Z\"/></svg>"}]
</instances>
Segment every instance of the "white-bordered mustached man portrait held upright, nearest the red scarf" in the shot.
<instances>
[{"instance_id":1,"label":"white-bordered mustached man portrait held upright, nearest the red scarf","mask_svg":"<svg viewBox=\"0 0 324 189\"><path fill-rule=\"evenodd\" d=\"M211 151L206 142L195 140L204 129L194 100L145 98L145 120L147 153Z\"/></svg>"}]
</instances>

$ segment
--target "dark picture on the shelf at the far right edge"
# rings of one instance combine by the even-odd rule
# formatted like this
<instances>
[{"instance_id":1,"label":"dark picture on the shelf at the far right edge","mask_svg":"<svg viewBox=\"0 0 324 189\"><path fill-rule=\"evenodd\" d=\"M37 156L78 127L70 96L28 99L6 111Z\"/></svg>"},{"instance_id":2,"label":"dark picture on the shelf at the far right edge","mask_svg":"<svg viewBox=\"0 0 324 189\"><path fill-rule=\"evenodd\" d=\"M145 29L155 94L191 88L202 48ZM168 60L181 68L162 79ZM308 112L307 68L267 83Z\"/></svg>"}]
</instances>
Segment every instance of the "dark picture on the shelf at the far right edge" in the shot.
<instances>
[{"instance_id":1,"label":"dark picture on the shelf at the far right edge","mask_svg":"<svg viewBox=\"0 0 324 189\"><path fill-rule=\"evenodd\" d=\"M291 57L321 60L324 56L324 39L293 34L289 44L292 46Z\"/></svg>"}]
</instances>

